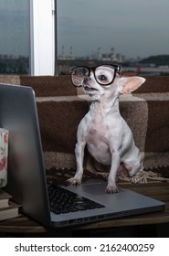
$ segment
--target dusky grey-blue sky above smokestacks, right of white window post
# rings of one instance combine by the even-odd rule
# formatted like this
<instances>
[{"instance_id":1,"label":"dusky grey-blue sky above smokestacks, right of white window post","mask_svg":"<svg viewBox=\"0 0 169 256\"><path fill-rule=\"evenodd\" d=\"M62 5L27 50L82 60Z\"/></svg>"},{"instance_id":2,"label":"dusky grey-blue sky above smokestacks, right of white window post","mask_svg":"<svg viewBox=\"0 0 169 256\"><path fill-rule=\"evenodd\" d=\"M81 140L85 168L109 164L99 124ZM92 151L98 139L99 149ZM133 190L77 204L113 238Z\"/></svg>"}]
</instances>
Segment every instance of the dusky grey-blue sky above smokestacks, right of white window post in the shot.
<instances>
[{"instance_id":1,"label":"dusky grey-blue sky above smokestacks, right of white window post","mask_svg":"<svg viewBox=\"0 0 169 256\"><path fill-rule=\"evenodd\" d=\"M169 0L58 0L58 54L169 54Z\"/></svg>"}]
</instances>

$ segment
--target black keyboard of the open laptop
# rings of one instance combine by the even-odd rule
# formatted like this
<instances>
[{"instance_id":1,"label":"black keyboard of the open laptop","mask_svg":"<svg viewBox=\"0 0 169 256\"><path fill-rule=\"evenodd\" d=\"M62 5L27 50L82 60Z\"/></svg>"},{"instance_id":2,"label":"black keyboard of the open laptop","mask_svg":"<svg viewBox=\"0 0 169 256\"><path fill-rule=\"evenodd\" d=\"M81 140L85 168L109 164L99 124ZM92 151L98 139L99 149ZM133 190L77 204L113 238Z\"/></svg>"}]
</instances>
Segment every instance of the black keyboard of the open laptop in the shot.
<instances>
[{"instance_id":1,"label":"black keyboard of the open laptop","mask_svg":"<svg viewBox=\"0 0 169 256\"><path fill-rule=\"evenodd\" d=\"M90 200L86 197L80 197L79 195L70 192L63 187L56 187L52 184L48 185L48 197L50 211L61 214L75 212L79 210L104 208L103 205Z\"/></svg>"}]
</instances>

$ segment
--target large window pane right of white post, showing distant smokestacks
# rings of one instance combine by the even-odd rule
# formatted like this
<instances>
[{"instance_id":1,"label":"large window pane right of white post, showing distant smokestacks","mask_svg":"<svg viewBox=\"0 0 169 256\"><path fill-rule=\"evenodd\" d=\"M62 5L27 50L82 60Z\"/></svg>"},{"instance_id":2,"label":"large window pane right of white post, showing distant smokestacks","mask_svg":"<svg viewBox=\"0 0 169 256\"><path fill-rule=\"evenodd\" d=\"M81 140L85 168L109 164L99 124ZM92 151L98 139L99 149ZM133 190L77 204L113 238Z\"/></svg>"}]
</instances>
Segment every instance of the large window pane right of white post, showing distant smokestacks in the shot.
<instances>
[{"instance_id":1,"label":"large window pane right of white post, showing distant smokestacks","mask_svg":"<svg viewBox=\"0 0 169 256\"><path fill-rule=\"evenodd\" d=\"M169 73L168 24L168 0L58 0L58 73L98 62Z\"/></svg>"}]
</instances>

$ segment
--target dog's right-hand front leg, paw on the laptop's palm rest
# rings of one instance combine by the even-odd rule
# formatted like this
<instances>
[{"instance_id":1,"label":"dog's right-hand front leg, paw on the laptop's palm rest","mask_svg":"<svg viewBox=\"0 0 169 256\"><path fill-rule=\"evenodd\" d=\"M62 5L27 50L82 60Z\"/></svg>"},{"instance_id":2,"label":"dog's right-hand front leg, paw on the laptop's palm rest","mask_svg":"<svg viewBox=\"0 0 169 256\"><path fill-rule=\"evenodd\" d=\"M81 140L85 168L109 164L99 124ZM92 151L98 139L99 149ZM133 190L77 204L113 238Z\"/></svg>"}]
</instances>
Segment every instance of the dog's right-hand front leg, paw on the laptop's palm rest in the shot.
<instances>
[{"instance_id":1,"label":"dog's right-hand front leg, paw on the laptop's palm rest","mask_svg":"<svg viewBox=\"0 0 169 256\"><path fill-rule=\"evenodd\" d=\"M108 177L108 186L106 187L107 193L117 193L119 189L116 186L116 176L121 163L121 155L119 151L111 153L111 171Z\"/></svg>"}]
</instances>

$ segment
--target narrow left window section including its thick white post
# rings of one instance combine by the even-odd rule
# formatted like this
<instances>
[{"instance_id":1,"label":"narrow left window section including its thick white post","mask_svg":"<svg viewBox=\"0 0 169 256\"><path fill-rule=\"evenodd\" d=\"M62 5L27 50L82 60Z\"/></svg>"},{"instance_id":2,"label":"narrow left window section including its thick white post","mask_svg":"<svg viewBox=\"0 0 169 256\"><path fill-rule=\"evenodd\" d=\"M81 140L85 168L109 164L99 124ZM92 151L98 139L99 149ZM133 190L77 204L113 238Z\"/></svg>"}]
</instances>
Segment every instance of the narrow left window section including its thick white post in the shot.
<instances>
[{"instance_id":1,"label":"narrow left window section including its thick white post","mask_svg":"<svg viewBox=\"0 0 169 256\"><path fill-rule=\"evenodd\" d=\"M0 0L0 73L54 75L55 1Z\"/></svg>"}]
</instances>

